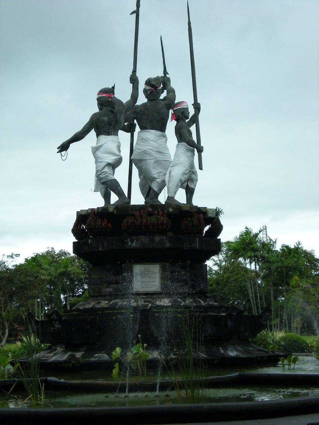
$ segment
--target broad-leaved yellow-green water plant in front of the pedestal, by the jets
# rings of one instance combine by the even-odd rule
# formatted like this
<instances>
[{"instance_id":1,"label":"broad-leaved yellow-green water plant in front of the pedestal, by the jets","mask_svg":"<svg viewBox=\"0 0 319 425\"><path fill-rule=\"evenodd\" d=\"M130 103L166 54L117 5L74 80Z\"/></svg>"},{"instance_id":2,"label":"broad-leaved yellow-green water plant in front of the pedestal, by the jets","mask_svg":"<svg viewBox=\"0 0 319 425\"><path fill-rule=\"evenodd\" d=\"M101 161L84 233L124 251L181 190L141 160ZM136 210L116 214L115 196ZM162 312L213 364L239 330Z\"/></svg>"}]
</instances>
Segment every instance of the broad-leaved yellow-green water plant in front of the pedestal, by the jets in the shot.
<instances>
[{"instance_id":1,"label":"broad-leaved yellow-green water plant in front of the pedestal, by the jets","mask_svg":"<svg viewBox=\"0 0 319 425\"><path fill-rule=\"evenodd\" d=\"M124 368L126 369L126 372L122 373L128 374L129 371L133 370L139 375L146 375L146 360L148 359L149 354L147 354L145 351L147 345L142 344L141 335L138 335L138 338L140 342L135 344L134 341L134 346L131 347L130 351L125 353L124 357L121 357L122 348L120 347L115 348L111 355L112 360L117 358L121 360ZM114 364L112 377L118 378L120 373L119 362L117 362Z\"/></svg>"}]
</instances>

